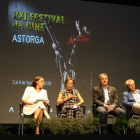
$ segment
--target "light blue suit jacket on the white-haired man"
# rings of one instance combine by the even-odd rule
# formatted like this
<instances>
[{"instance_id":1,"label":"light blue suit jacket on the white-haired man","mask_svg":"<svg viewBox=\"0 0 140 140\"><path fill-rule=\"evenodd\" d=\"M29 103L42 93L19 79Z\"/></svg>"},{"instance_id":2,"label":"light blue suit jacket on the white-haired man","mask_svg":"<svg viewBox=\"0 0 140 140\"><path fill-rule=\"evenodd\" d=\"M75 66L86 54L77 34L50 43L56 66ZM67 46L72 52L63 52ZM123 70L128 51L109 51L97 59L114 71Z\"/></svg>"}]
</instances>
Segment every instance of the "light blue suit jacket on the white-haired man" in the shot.
<instances>
[{"instance_id":1,"label":"light blue suit jacket on the white-haired man","mask_svg":"<svg viewBox=\"0 0 140 140\"><path fill-rule=\"evenodd\" d=\"M139 89L136 89L136 91L140 94L140 90ZM123 93L123 105L124 106L129 106L129 107L132 107L132 105L136 103L134 97L133 97L133 94L131 93L131 91L125 91Z\"/></svg>"}]
</instances>

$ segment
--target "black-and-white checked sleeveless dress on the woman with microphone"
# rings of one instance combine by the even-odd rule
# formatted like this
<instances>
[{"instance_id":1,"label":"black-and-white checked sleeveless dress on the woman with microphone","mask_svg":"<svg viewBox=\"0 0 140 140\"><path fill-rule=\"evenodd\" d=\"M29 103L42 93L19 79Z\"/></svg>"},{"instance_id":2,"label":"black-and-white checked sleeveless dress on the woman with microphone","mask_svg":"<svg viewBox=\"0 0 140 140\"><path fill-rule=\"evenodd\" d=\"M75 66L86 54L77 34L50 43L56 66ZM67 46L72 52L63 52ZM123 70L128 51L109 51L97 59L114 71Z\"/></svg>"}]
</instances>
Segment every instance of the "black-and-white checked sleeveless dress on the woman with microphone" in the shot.
<instances>
[{"instance_id":1,"label":"black-and-white checked sleeveless dress on the woman with microphone","mask_svg":"<svg viewBox=\"0 0 140 140\"><path fill-rule=\"evenodd\" d=\"M73 94L73 97L67 101L65 101L62 105L62 113L67 115L67 118L78 118L81 117L81 110L80 109L74 109L73 105L77 104L77 94L78 90L61 90L63 99L66 98L69 94Z\"/></svg>"}]
</instances>

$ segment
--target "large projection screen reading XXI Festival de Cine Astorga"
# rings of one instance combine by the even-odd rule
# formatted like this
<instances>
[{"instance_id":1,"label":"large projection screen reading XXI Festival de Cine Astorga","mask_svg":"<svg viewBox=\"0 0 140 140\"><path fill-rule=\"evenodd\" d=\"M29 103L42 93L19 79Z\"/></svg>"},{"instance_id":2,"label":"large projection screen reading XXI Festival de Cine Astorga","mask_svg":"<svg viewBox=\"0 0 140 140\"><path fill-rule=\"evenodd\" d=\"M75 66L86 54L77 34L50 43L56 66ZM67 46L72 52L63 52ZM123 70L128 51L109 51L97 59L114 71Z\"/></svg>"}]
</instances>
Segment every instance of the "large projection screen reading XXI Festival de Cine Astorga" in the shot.
<instances>
[{"instance_id":1,"label":"large projection screen reading XXI Festival de Cine Astorga","mask_svg":"<svg viewBox=\"0 0 140 140\"><path fill-rule=\"evenodd\" d=\"M139 81L140 8L97 2L4 1L1 8L0 123L18 123L19 103L35 76L45 78L50 117L64 80L72 77L92 115L100 73L117 89ZM124 107L123 107L124 108Z\"/></svg>"}]
</instances>

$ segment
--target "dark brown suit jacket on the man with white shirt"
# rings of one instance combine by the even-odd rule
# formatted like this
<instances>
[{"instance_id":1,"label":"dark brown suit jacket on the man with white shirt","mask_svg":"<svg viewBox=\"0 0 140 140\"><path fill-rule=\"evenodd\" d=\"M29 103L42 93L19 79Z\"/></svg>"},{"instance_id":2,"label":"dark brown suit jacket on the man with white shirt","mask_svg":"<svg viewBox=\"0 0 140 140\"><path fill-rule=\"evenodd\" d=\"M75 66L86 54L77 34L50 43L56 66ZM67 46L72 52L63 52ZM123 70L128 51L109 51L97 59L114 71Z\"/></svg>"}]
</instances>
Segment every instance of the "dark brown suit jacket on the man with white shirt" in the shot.
<instances>
[{"instance_id":1,"label":"dark brown suit jacket on the man with white shirt","mask_svg":"<svg viewBox=\"0 0 140 140\"><path fill-rule=\"evenodd\" d=\"M116 106L119 105L117 91L114 87L108 86L108 95L110 103ZM98 106L103 106L105 101L105 95L102 86L97 86L93 88L93 103Z\"/></svg>"}]
</instances>

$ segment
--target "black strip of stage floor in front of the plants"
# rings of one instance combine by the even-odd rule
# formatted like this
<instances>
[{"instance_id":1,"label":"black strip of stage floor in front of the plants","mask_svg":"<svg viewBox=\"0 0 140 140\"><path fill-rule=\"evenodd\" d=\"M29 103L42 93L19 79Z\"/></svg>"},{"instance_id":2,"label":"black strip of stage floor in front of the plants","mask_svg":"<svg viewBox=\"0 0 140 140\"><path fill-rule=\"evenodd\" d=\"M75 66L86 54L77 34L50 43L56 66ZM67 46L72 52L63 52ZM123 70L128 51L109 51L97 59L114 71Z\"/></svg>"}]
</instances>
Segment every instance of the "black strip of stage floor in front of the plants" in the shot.
<instances>
[{"instance_id":1,"label":"black strip of stage floor in front of the plants","mask_svg":"<svg viewBox=\"0 0 140 140\"><path fill-rule=\"evenodd\" d=\"M0 135L0 140L119 140L119 139L139 139L140 134L87 134L87 135Z\"/></svg>"}]
</instances>

